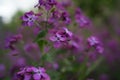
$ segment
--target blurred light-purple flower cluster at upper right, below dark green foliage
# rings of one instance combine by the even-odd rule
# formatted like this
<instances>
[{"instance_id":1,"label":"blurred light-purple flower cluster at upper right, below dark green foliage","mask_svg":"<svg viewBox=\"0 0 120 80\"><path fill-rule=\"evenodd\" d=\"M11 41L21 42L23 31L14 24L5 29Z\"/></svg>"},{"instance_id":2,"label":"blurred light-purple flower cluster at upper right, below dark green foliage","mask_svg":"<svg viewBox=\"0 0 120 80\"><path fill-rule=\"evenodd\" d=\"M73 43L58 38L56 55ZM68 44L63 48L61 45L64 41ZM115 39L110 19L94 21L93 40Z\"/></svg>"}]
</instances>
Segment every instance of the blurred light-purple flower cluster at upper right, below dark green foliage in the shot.
<instances>
[{"instance_id":1,"label":"blurred light-purple flower cluster at upper right, below dark green foliage","mask_svg":"<svg viewBox=\"0 0 120 80\"><path fill-rule=\"evenodd\" d=\"M90 25L90 20L85 15L83 15L83 13L81 12L79 8L76 10L75 19L76 19L77 24L79 24L80 27Z\"/></svg>"}]
</instances>

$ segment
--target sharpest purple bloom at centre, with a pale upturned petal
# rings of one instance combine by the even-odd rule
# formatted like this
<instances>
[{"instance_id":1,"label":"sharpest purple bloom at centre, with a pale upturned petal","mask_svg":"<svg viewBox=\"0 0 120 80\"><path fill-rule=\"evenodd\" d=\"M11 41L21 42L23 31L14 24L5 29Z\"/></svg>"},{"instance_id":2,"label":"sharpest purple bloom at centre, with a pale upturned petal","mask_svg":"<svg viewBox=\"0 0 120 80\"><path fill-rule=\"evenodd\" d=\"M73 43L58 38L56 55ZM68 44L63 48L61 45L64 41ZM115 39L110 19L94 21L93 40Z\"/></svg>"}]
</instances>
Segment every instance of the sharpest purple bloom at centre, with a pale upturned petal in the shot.
<instances>
[{"instance_id":1,"label":"sharpest purple bloom at centre, with a pale upturned petal","mask_svg":"<svg viewBox=\"0 0 120 80\"><path fill-rule=\"evenodd\" d=\"M54 42L54 47L61 47L62 45L67 45L72 38L72 32L67 28L62 28L60 30L55 30L50 36L50 40Z\"/></svg>"}]
</instances>

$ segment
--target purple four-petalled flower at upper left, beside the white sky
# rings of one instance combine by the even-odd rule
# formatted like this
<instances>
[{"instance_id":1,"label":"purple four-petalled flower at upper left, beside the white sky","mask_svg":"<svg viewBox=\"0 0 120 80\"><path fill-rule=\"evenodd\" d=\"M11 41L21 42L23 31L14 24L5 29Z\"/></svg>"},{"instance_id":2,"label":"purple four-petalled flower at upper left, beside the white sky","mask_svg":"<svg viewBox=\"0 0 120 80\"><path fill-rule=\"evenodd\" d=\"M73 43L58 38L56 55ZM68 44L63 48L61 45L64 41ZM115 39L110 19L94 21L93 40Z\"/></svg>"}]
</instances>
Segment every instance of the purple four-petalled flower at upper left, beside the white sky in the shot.
<instances>
[{"instance_id":1,"label":"purple four-petalled flower at upper left, beside the white sky","mask_svg":"<svg viewBox=\"0 0 120 80\"><path fill-rule=\"evenodd\" d=\"M24 26L33 26L34 22L38 19L41 14L35 14L33 11L26 12L22 17Z\"/></svg>"}]
</instances>

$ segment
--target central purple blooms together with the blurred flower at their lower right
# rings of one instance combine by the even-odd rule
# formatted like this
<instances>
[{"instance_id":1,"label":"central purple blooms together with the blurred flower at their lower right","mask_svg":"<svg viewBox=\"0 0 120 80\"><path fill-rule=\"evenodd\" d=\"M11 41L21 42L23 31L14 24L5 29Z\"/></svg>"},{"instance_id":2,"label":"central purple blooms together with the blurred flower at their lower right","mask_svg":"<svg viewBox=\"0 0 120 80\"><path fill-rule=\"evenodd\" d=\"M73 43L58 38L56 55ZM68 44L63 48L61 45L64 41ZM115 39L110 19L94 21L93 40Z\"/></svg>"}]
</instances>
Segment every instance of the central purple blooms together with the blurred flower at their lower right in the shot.
<instances>
[{"instance_id":1,"label":"central purple blooms together with the blurred flower at their lower right","mask_svg":"<svg viewBox=\"0 0 120 80\"><path fill-rule=\"evenodd\" d=\"M79 49L82 50L82 45L80 46L81 40L73 35L71 31L63 27L62 29L55 29L50 32L50 41L54 43L55 48L67 48L67 49Z\"/></svg>"}]
</instances>

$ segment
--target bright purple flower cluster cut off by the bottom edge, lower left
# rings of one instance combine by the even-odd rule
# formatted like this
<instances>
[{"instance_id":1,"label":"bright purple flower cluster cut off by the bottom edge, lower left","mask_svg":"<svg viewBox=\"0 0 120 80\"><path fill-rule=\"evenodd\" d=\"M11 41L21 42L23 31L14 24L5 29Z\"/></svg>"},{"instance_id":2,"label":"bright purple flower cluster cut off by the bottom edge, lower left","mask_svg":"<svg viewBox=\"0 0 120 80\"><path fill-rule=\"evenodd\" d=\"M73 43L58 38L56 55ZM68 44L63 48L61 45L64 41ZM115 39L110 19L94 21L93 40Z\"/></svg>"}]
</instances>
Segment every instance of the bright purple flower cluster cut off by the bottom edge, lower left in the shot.
<instances>
[{"instance_id":1,"label":"bright purple flower cluster cut off by the bottom edge, lower left","mask_svg":"<svg viewBox=\"0 0 120 80\"><path fill-rule=\"evenodd\" d=\"M20 80L50 80L46 70L42 67L25 67L17 73Z\"/></svg>"}]
</instances>

